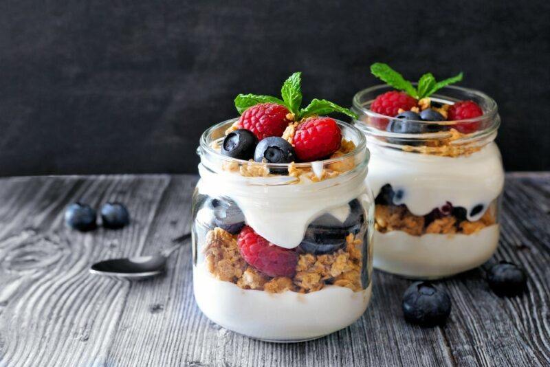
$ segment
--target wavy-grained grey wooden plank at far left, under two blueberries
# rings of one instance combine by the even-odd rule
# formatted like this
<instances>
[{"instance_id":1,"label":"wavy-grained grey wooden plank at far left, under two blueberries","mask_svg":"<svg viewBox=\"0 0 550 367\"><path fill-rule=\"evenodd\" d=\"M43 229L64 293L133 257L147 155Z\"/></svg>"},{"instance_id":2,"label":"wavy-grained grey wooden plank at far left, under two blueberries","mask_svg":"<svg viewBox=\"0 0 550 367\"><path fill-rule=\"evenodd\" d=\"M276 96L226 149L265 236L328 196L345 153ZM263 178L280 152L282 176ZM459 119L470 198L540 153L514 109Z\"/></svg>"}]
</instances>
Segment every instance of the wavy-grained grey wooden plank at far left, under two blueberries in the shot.
<instances>
[{"instance_id":1,"label":"wavy-grained grey wooden plank at far left, under two blueberries","mask_svg":"<svg viewBox=\"0 0 550 367\"><path fill-rule=\"evenodd\" d=\"M158 176L20 182L32 188L38 182L41 188L21 190L26 194L17 195L12 205L23 214L2 230L0 365L84 366L102 360L130 285L90 276L88 267L101 258L140 253L168 181ZM120 232L69 231L63 208L78 199L96 208L118 199L136 220Z\"/></svg>"}]
</instances>

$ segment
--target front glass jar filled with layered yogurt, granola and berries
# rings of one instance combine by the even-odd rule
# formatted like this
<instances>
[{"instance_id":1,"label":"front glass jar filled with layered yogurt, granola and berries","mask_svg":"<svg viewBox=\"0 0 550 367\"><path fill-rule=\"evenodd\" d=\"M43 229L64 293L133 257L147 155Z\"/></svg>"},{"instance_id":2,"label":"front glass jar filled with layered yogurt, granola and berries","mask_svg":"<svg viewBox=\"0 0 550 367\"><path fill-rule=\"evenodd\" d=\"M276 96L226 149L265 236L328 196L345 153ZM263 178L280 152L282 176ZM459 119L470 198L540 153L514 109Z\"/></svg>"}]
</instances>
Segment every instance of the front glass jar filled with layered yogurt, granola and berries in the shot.
<instances>
[{"instance_id":1,"label":"front glass jar filled with layered yogurt, granola and berries","mask_svg":"<svg viewBox=\"0 0 550 367\"><path fill-rule=\"evenodd\" d=\"M226 329L261 340L297 342L343 329L371 298L374 199L364 135L338 122L353 142L348 153L265 164L219 153L234 121L208 129L197 150L192 250L199 308Z\"/></svg>"}]
</instances>

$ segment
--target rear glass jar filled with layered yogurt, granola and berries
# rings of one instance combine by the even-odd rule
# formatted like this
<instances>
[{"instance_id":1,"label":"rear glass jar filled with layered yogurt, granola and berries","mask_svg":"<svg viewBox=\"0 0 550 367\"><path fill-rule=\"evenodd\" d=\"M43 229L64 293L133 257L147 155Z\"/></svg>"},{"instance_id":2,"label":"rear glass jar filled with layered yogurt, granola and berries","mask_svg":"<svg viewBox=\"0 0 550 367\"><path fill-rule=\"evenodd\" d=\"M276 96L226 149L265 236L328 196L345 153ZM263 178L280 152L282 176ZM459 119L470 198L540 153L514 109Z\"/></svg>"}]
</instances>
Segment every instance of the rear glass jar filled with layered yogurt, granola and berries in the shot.
<instances>
[{"instance_id":1,"label":"rear glass jar filled with layered yogurt, granola and berries","mask_svg":"<svg viewBox=\"0 0 550 367\"><path fill-rule=\"evenodd\" d=\"M366 181L375 197L374 267L408 278L443 278L485 263L496 251L504 170L494 143L496 102L479 91L445 87L432 107L474 100L483 115L460 121L392 120L370 110L388 86L364 89L353 109L371 150ZM403 125L401 125L403 126Z\"/></svg>"}]
</instances>

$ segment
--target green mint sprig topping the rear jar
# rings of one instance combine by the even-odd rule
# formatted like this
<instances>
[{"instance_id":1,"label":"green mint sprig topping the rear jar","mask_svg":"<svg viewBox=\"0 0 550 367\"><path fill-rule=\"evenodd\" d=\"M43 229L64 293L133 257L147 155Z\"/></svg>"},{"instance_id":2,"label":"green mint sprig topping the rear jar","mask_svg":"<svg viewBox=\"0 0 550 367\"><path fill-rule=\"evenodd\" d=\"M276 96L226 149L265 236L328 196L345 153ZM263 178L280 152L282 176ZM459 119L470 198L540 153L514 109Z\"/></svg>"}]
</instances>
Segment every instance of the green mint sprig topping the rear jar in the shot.
<instances>
[{"instance_id":1,"label":"green mint sprig topping the rear jar","mask_svg":"<svg viewBox=\"0 0 550 367\"><path fill-rule=\"evenodd\" d=\"M391 87L394 87L399 91L405 91L409 96L419 100L431 96L433 93L443 87L446 87L447 85L460 82L463 76L463 74L460 73L452 78L436 82L432 73L426 73L420 77L417 88L415 88L411 82L405 80L401 74L387 64L374 63L371 65L371 73L386 82L386 84L391 85Z\"/></svg>"}]
</instances>

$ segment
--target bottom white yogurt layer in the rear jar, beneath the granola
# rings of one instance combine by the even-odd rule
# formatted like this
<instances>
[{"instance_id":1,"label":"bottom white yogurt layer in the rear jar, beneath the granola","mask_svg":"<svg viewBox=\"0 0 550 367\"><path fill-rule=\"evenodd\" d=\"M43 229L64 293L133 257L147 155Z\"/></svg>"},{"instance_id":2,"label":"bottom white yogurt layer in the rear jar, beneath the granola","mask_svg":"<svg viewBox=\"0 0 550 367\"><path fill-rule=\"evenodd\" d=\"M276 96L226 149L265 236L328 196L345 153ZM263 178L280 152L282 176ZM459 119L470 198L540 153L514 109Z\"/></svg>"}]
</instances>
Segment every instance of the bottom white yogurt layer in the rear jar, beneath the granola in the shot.
<instances>
[{"instance_id":1,"label":"bottom white yogurt layer in the rear jar, beneath the granola","mask_svg":"<svg viewBox=\"0 0 550 367\"><path fill-rule=\"evenodd\" d=\"M498 224L474 234L424 234L403 231L374 234L374 267L411 278L441 278L485 263L498 245Z\"/></svg>"}]
</instances>

